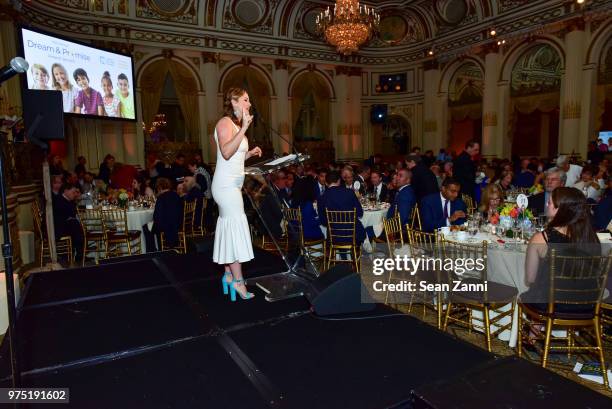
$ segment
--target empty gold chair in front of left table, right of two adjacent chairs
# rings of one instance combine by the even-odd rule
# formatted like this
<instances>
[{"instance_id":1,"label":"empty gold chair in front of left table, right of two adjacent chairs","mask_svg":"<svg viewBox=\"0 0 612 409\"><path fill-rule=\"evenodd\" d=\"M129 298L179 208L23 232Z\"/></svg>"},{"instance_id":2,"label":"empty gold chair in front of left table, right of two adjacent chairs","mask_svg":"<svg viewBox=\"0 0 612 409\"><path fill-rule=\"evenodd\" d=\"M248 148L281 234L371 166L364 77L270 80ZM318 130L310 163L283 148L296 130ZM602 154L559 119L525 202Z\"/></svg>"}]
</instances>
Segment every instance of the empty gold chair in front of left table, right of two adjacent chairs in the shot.
<instances>
[{"instance_id":1,"label":"empty gold chair in front of left table, right of two adjacent chairs","mask_svg":"<svg viewBox=\"0 0 612 409\"><path fill-rule=\"evenodd\" d=\"M125 209L102 210L107 255L122 256L141 252L140 230L130 230Z\"/></svg>"}]
</instances>

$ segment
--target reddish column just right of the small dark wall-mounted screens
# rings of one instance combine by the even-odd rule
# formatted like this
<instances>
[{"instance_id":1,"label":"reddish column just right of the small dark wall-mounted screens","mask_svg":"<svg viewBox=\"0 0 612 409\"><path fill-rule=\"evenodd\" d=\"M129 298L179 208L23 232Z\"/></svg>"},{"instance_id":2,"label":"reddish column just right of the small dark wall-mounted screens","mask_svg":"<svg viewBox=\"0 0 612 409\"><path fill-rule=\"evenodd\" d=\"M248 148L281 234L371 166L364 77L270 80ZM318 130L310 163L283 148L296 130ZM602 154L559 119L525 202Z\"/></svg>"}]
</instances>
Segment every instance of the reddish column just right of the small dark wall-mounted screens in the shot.
<instances>
[{"instance_id":1,"label":"reddish column just right of the small dark wall-mounted screens","mask_svg":"<svg viewBox=\"0 0 612 409\"><path fill-rule=\"evenodd\" d=\"M440 132L446 129L446 126L440 122L439 83L440 68L438 62L436 60L426 61L423 67L423 151L432 149L437 152L440 148L446 147L446 140L440 136ZM446 104L444 105L446 106ZM413 141L416 140L416 137L416 132L413 130ZM415 145L415 143L412 142L412 145ZM408 149L410 148L408 147Z\"/></svg>"}]
</instances>

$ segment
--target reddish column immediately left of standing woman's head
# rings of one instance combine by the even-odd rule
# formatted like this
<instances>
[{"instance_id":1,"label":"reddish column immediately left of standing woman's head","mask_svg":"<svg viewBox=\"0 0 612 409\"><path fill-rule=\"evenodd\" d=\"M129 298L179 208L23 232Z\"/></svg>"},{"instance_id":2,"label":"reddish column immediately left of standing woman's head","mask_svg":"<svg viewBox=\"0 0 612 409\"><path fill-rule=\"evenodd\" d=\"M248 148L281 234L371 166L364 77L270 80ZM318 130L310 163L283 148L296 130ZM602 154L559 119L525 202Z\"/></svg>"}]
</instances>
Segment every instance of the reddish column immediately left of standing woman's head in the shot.
<instances>
[{"instance_id":1,"label":"reddish column immediately left of standing woman's head","mask_svg":"<svg viewBox=\"0 0 612 409\"><path fill-rule=\"evenodd\" d=\"M213 139L215 125L219 120L217 100L219 67L217 66L217 57L218 55L214 53L202 53L201 75L205 95L203 98L198 97L198 101L204 101L203 107L200 107L200 144L202 146L202 159L205 162L216 162L217 160L217 149Z\"/></svg>"}]
</instances>

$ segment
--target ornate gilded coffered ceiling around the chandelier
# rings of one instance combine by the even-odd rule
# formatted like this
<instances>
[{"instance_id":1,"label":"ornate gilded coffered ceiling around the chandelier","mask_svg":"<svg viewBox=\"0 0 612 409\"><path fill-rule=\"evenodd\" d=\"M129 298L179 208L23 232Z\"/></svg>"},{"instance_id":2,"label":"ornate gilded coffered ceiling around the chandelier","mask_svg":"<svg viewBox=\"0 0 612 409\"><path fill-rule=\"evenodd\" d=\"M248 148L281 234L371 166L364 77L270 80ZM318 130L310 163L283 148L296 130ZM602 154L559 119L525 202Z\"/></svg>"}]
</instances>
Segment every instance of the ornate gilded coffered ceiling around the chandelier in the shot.
<instances>
[{"instance_id":1,"label":"ornate gilded coffered ceiling around the chandelier","mask_svg":"<svg viewBox=\"0 0 612 409\"><path fill-rule=\"evenodd\" d=\"M566 0L370 0L381 35L341 57L317 37L315 15L327 0L12 0L26 22L67 35L129 44L370 65L453 58L488 38L524 38L577 10ZM589 0L605 13L612 0Z\"/></svg>"}]
</instances>

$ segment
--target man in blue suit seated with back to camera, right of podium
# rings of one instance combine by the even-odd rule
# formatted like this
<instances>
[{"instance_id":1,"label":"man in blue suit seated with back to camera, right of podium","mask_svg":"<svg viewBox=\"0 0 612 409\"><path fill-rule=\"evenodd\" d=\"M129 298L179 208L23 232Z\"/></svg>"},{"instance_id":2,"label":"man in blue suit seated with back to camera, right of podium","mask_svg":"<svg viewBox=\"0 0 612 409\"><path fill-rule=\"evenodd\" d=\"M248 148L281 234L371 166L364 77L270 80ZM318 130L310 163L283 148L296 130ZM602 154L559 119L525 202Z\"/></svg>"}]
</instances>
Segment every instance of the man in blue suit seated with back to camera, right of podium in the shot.
<instances>
[{"instance_id":1,"label":"man in blue suit seated with back to camera, right of podium","mask_svg":"<svg viewBox=\"0 0 612 409\"><path fill-rule=\"evenodd\" d=\"M357 200L355 192L351 189L347 189L344 185L341 185L340 173L338 171L331 171L327 174L326 178L327 190L321 196L318 204L319 220L323 226L327 226L327 214L326 209L329 210L353 210L356 209L355 220L355 241L357 244L363 243L366 234L363 225L359 218L363 217L363 208L361 203ZM328 233L329 234L329 233Z\"/></svg>"}]
</instances>

